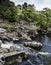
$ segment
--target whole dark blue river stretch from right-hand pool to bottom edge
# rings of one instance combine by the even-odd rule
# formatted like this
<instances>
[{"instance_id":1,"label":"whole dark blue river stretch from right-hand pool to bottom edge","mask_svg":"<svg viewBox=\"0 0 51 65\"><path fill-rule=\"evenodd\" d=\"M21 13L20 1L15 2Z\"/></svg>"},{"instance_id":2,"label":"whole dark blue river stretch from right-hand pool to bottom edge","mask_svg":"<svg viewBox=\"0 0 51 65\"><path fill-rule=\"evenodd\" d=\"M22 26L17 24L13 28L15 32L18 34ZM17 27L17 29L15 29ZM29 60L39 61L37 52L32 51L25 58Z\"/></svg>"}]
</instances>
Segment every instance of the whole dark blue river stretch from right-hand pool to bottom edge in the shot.
<instances>
[{"instance_id":1,"label":"whole dark blue river stretch from right-hand pool to bottom edge","mask_svg":"<svg viewBox=\"0 0 51 65\"><path fill-rule=\"evenodd\" d=\"M38 36L36 41L43 44L42 50L20 65L51 65L51 37L46 35ZM40 54L38 55L38 53Z\"/></svg>"}]
</instances>

